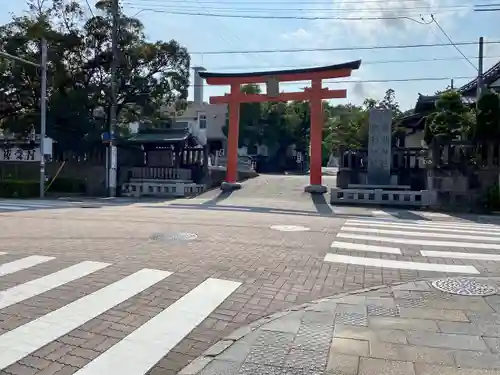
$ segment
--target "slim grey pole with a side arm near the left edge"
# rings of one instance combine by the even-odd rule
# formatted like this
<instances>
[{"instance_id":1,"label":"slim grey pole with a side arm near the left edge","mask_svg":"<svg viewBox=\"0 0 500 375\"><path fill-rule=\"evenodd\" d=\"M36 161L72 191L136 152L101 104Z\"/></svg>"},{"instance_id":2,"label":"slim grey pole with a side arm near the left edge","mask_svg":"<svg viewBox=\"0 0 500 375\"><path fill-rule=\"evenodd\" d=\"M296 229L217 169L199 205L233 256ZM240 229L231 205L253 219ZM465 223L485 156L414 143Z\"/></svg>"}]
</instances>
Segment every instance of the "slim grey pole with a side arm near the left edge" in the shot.
<instances>
[{"instance_id":1,"label":"slim grey pole with a side arm near the left edge","mask_svg":"<svg viewBox=\"0 0 500 375\"><path fill-rule=\"evenodd\" d=\"M31 65L41 69L41 89L40 89L40 198L45 196L45 133L47 132L47 41L41 40L40 44L40 63L34 63L29 60L0 51L0 57L17 61L22 64Z\"/></svg>"}]
</instances>

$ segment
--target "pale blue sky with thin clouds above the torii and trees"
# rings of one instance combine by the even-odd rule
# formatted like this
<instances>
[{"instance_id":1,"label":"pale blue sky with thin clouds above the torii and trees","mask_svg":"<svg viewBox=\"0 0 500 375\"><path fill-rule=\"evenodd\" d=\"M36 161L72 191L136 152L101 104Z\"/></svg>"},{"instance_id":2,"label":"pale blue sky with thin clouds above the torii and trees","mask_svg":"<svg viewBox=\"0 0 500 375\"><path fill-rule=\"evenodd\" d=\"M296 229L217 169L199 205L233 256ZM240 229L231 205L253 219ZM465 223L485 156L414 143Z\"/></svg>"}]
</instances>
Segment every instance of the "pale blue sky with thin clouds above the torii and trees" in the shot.
<instances>
[{"instance_id":1,"label":"pale blue sky with thin clouds above the torii and trees","mask_svg":"<svg viewBox=\"0 0 500 375\"><path fill-rule=\"evenodd\" d=\"M95 0L89 0L92 4ZM300 19L245 19L201 17L169 14L168 11L187 13L251 14L263 16L321 16L321 17L381 17L410 15L430 20L433 13L441 27L454 42L478 40L500 42L498 17L500 12L474 12L473 3L465 0L120 0L125 11L146 26L150 39L176 39L192 55L192 65L202 65L210 71L255 71L330 65L361 59L361 68L346 80L355 83L328 84L328 87L346 88L350 101L361 103L366 97L380 98L388 88L396 91L403 109L415 104L418 93L433 94L446 87L449 80L419 82L366 82L420 77L472 77L475 69L451 46L416 49L375 49L352 51L318 51L303 53L222 54L200 52L248 51L298 48L343 48L374 45L402 45L447 42L435 24L421 25L410 20L300 20ZM479 1L479 0L478 0ZM84 0L81 0L85 5ZM483 0L484 3L494 0ZM7 11L19 13L25 8L22 0L0 0L3 12L0 21L9 20ZM143 10L147 9L147 10ZM251 10L249 10L251 9ZM142 11L141 11L142 10ZM497 26L495 26L495 21ZM459 46L477 66L477 46ZM485 69L500 60L500 44L486 44ZM387 63L394 60L432 60ZM455 85L467 79L455 79ZM304 87L283 85L285 91ZM205 88L209 95L220 95L225 88ZM192 95L192 90L190 90Z\"/></svg>"}]
</instances>

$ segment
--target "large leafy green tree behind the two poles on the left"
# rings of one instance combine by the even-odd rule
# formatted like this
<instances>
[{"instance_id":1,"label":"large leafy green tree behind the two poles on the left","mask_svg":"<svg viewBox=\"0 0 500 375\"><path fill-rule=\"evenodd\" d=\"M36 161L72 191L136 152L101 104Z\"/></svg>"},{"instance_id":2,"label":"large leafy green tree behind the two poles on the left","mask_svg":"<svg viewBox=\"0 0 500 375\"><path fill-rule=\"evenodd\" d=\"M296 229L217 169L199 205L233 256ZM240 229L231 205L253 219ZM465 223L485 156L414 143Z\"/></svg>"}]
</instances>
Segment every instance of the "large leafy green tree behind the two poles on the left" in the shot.
<instances>
[{"instance_id":1,"label":"large leafy green tree behind the two poles on the left","mask_svg":"<svg viewBox=\"0 0 500 375\"><path fill-rule=\"evenodd\" d=\"M38 61L39 40L48 41L48 128L60 146L82 149L107 128L96 119L111 110L111 14L86 19L75 0L30 2L26 15L0 28L0 48ZM118 119L151 119L161 108L187 97L189 54L176 41L149 42L137 19L119 13ZM40 78L36 68L0 66L0 90L6 104L1 126L15 133L39 129Z\"/></svg>"}]
</instances>

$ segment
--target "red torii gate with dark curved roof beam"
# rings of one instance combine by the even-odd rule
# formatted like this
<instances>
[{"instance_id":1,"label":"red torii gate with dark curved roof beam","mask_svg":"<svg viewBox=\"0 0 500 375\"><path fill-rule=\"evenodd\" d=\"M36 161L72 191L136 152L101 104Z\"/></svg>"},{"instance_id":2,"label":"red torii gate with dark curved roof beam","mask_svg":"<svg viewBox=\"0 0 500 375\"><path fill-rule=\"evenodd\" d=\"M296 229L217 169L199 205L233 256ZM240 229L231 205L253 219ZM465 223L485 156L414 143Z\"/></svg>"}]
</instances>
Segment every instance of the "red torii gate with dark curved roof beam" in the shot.
<instances>
[{"instance_id":1,"label":"red torii gate with dark curved roof beam","mask_svg":"<svg viewBox=\"0 0 500 375\"><path fill-rule=\"evenodd\" d=\"M347 96L347 90L330 90L322 87L322 80L349 77L353 70L359 69L361 60L344 64L308 69L279 70L250 73L213 73L199 72L209 85L229 85L230 94L210 97L210 104L228 104L229 130L227 150L226 181L222 190L234 190L241 187L237 182L238 173L238 133L240 105L242 103L261 103L267 101L287 102L308 100L311 106L311 159L310 185L304 190L309 193L325 193L322 185L321 148L323 138L323 99L341 99ZM311 87L303 92L279 92L279 82L311 81ZM241 92L241 85L267 83L266 94L246 94Z\"/></svg>"}]
</instances>

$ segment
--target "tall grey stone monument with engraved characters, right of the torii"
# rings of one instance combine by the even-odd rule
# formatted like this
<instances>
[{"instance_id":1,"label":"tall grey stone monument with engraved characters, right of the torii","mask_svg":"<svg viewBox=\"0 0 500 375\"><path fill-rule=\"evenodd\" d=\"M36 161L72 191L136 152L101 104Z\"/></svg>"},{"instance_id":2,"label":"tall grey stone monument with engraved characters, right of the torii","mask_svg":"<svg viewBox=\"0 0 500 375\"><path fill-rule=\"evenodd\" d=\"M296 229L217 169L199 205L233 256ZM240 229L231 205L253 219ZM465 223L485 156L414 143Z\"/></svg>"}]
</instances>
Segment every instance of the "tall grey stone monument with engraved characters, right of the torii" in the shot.
<instances>
[{"instance_id":1,"label":"tall grey stone monument with engraved characters, right of the torii","mask_svg":"<svg viewBox=\"0 0 500 375\"><path fill-rule=\"evenodd\" d=\"M368 184L389 185L391 182L392 112L370 110L368 133Z\"/></svg>"}]
</instances>

